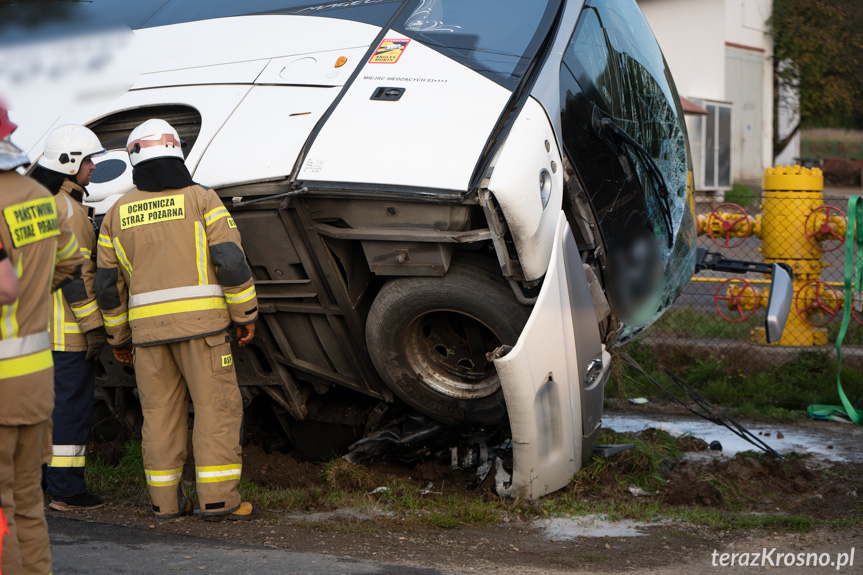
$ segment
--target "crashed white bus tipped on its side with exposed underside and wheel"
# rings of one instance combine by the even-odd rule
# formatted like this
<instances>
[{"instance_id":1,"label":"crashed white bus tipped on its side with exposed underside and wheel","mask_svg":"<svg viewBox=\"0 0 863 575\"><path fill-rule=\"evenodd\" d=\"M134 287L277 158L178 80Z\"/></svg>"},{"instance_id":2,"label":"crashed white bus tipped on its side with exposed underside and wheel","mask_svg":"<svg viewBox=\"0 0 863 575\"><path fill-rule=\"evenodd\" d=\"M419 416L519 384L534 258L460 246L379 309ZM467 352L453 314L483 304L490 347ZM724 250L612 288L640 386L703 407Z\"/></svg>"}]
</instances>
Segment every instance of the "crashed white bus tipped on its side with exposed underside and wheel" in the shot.
<instances>
[{"instance_id":1,"label":"crashed white bus tipped on its side with exposed underside and wheel","mask_svg":"<svg viewBox=\"0 0 863 575\"><path fill-rule=\"evenodd\" d=\"M695 265L683 114L635 2L235 4L67 6L69 26L133 30L136 75L116 98L14 109L30 157L57 125L93 129L104 213L133 186L130 130L179 131L257 284L246 404L268 397L295 446L407 405L509 425L509 494L564 486L600 429L608 350ZM133 374L103 363L98 394L133 424Z\"/></svg>"}]
</instances>

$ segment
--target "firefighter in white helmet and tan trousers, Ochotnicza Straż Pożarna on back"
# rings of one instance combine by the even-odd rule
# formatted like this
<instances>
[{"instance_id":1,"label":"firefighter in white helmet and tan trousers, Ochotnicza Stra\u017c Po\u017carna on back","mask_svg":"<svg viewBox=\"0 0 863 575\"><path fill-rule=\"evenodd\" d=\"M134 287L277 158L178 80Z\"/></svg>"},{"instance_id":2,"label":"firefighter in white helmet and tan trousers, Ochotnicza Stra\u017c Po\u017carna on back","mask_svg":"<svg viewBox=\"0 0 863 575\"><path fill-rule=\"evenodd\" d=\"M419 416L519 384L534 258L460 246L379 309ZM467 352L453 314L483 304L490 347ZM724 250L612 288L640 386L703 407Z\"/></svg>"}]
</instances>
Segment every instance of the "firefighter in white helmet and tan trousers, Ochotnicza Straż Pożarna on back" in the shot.
<instances>
[{"instance_id":1,"label":"firefighter in white helmet and tan trousers, Ochotnicza Stra\u017c Po\u017carna on back","mask_svg":"<svg viewBox=\"0 0 863 575\"><path fill-rule=\"evenodd\" d=\"M126 145L136 189L105 216L96 298L118 360L134 358L144 413L144 473L157 517L191 512L182 482L188 401L200 513L247 519L237 492L243 405L231 355L254 337L255 285L237 225L215 192L192 181L180 138L147 120Z\"/></svg>"}]
</instances>

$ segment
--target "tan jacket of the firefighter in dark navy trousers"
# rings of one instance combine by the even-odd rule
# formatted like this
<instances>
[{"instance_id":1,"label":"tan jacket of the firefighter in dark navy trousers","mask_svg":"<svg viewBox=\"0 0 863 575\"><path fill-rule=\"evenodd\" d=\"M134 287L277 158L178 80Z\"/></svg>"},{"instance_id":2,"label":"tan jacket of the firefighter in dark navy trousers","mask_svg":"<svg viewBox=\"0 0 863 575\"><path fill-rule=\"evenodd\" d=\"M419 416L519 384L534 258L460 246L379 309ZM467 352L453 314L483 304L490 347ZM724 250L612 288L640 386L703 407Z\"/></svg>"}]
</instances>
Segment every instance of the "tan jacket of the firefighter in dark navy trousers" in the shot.
<instances>
[{"instance_id":1,"label":"tan jacket of the firefighter in dark navy trousers","mask_svg":"<svg viewBox=\"0 0 863 575\"><path fill-rule=\"evenodd\" d=\"M93 282L96 278L96 231L90 219L90 210L81 205L84 190L66 180L54 197L57 209L66 212L69 227L78 241L84 256L81 277L54 292L51 297L51 318L48 332L54 351L87 351L90 330L102 326L102 315L96 303Z\"/></svg>"}]
</instances>

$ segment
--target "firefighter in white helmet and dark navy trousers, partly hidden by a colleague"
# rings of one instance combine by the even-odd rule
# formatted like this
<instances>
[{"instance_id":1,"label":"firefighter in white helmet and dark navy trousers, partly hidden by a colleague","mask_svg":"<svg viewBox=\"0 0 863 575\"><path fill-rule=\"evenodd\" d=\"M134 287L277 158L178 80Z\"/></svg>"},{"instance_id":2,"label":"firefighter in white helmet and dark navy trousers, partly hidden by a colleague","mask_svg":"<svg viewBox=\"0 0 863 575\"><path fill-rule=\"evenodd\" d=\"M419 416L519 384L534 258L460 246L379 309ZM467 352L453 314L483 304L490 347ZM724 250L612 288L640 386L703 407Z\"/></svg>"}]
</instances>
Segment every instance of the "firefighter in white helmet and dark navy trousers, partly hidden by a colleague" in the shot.
<instances>
[{"instance_id":1,"label":"firefighter in white helmet and dark navy trousers, partly hidden by a colleague","mask_svg":"<svg viewBox=\"0 0 863 575\"><path fill-rule=\"evenodd\" d=\"M93 292L96 233L93 210L82 204L105 154L99 138L84 126L60 126L49 134L30 177L54 194L84 256L81 277L54 292L48 320L54 356L54 416L51 460L45 473L48 506L57 511L95 509L102 499L87 491L84 462L93 420L95 360L105 345L105 328ZM72 303L74 302L74 304Z\"/></svg>"}]
</instances>

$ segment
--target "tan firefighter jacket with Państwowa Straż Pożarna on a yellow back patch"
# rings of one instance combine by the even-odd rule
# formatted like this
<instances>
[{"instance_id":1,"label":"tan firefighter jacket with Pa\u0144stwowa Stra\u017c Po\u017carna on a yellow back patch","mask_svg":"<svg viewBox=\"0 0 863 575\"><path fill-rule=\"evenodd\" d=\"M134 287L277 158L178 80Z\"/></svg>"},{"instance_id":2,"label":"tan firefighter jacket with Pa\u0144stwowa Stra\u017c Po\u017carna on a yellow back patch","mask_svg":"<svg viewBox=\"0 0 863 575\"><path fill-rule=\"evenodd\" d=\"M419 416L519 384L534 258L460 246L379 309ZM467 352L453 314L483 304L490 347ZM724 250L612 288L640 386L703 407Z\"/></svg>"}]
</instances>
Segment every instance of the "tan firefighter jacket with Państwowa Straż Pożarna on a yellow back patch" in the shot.
<instances>
[{"instance_id":1,"label":"tan firefighter jacket with Pa\u0144stwowa Stra\u017c Po\u017carna on a yellow back patch","mask_svg":"<svg viewBox=\"0 0 863 575\"><path fill-rule=\"evenodd\" d=\"M83 263L66 219L39 183L0 172L0 244L19 285L18 299L0 306L0 425L33 425L51 417L51 290L78 277Z\"/></svg>"}]
</instances>

